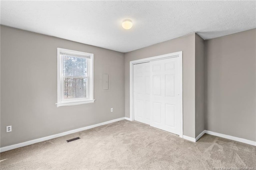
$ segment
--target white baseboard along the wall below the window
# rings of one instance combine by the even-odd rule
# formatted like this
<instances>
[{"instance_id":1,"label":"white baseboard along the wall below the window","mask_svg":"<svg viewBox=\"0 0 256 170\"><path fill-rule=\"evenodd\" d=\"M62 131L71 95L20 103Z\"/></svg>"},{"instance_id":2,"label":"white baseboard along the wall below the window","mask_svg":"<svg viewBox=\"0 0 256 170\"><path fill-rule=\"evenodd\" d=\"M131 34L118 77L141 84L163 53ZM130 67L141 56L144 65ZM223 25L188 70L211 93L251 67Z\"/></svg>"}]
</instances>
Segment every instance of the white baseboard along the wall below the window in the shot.
<instances>
[{"instance_id":1,"label":"white baseboard along the wall below the window","mask_svg":"<svg viewBox=\"0 0 256 170\"><path fill-rule=\"evenodd\" d=\"M38 143L38 142L42 142L42 141L45 141L45 140L50 140L50 139L53 139L53 138L57 138L57 137L60 137L60 136L65 136L67 134L72 134L72 133L80 132L80 131L87 130L87 129L90 129L90 128L99 127L99 126L102 126L102 125L107 125L109 123L114 123L114 122L117 122L117 121L122 121L124 119L125 119L125 117L122 117L122 118L119 118L119 119L114 119L114 120L111 120L111 121L106 121L106 122L103 122L103 123L98 123L96 125L91 125L91 126L88 126L88 127L77 128L77 129L74 129L74 130L69 130L67 132L62 132L62 133L54 134L54 135L51 135L51 136L46 136L46 137L43 137L43 138L29 140L29 141L26 141L26 142L22 142L22 143L18 143L18 144L13 144L13 145L10 145L10 146L4 146L4 147L0 148L0 152L5 152L7 150L12 150L12 149L15 149L15 148L20 148L22 146L27 146L27 145Z\"/></svg>"}]
</instances>

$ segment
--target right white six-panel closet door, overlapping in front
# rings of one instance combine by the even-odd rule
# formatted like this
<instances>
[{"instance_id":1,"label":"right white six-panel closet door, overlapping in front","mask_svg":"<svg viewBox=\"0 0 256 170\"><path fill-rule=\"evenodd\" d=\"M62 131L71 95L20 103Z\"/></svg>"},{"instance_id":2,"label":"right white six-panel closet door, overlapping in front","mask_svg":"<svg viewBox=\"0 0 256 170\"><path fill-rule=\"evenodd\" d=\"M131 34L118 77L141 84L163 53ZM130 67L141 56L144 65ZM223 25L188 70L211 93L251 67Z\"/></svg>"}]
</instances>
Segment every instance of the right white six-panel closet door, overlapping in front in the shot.
<instances>
[{"instance_id":1,"label":"right white six-panel closet door, overlapping in front","mask_svg":"<svg viewBox=\"0 0 256 170\"><path fill-rule=\"evenodd\" d=\"M180 60L150 61L152 110L150 125L180 134Z\"/></svg>"}]
</instances>

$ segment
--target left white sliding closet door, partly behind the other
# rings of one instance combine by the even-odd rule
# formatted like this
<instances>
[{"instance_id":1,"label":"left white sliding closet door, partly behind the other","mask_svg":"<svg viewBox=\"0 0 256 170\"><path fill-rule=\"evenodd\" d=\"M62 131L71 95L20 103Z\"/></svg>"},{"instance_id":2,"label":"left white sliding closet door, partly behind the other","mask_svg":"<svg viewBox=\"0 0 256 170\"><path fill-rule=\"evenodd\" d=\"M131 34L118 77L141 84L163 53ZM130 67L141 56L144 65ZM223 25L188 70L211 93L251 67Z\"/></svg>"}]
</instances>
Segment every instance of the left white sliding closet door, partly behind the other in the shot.
<instances>
[{"instance_id":1,"label":"left white sliding closet door, partly behind the other","mask_svg":"<svg viewBox=\"0 0 256 170\"><path fill-rule=\"evenodd\" d=\"M134 65L134 120L150 125L150 63Z\"/></svg>"}]
</instances>

